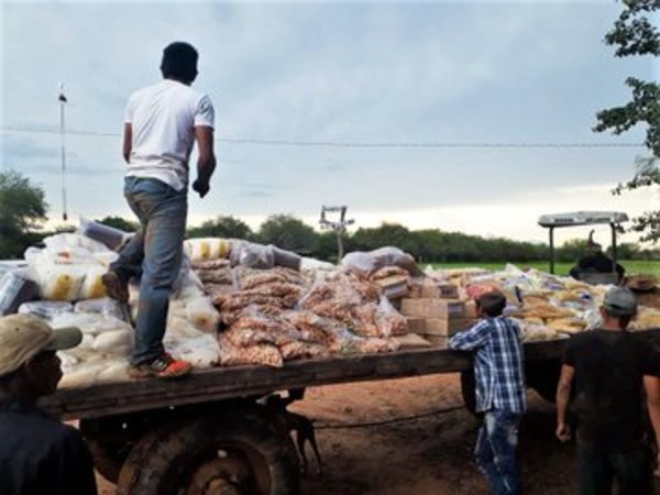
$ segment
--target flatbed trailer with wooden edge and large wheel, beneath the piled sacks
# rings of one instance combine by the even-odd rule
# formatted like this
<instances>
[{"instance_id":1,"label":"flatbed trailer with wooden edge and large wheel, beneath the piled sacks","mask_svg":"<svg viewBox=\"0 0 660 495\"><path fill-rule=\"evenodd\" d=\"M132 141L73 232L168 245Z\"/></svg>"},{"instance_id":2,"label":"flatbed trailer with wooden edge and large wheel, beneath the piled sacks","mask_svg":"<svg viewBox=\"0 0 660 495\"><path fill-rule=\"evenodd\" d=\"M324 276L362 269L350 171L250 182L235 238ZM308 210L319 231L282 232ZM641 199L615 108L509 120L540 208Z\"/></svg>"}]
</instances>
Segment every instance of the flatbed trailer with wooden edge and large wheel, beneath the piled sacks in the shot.
<instances>
[{"instance_id":1,"label":"flatbed trailer with wooden edge and large wheel, beneath the piled sacks","mask_svg":"<svg viewBox=\"0 0 660 495\"><path fill-rule=\"evenodd\" d=\"M660 342L660 329L639 332ZM553 400L566 339L525 344L528 386ZM460 373L474 408L471 355L441 348L290 361L283 369L217 367L176 381L64 388L40 405L79 420L97 470L120 495L297 494L299 461L285 406L306 387Z\"/></svg>"}]
</instances>

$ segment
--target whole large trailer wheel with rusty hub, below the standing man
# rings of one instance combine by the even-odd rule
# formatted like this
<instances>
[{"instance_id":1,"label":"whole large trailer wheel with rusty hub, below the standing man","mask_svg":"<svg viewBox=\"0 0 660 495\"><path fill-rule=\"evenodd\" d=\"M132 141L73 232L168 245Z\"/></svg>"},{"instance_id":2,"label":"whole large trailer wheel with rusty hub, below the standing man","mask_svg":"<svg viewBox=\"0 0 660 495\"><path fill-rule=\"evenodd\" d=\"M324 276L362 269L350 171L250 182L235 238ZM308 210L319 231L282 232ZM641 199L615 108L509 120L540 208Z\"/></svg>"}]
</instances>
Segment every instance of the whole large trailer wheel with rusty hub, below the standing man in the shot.
<instances>
[{"instance_id":1,"label":"whole large trailer wheel with rusty hub, below the standing man","mask_svg":"<svg viewBox=\"0 0 660 495\"><path fill-rule=\"evenodd\" d=\"M290 437L256 411L148 433L129 454L118 495L296 495Z\"/></svg>"}]
</instances>

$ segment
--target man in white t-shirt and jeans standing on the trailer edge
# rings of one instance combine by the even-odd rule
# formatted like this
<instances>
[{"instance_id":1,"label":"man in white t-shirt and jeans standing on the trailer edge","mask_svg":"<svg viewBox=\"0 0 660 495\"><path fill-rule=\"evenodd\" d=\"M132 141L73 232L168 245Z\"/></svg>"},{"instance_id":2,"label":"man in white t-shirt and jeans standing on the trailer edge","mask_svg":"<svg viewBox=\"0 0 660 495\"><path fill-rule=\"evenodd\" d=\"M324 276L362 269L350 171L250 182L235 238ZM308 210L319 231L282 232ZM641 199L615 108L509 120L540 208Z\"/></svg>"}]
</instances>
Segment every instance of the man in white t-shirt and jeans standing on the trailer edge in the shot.
<instances>
[{"instance_id":1,"label":"man in white t-shirt and jeans standing on the trailer edge","mask_svg":"<svg viewBox=\"0 0 660 495\"><path fill-rule=\"evenodd\" d=\"M124 196L141 230L103 276L108 295L128 301L128 283L141 266L140 306L131 374L176 377L190 372L187 361L165 352L169 293L183 258L188 211L188 160L195 141L199 158L193 189L204 198L216 168L213 106L194 91L197 51L175 42L163 51L163 80L131 95L125 111Z\"/></svg>"}]
</instances>

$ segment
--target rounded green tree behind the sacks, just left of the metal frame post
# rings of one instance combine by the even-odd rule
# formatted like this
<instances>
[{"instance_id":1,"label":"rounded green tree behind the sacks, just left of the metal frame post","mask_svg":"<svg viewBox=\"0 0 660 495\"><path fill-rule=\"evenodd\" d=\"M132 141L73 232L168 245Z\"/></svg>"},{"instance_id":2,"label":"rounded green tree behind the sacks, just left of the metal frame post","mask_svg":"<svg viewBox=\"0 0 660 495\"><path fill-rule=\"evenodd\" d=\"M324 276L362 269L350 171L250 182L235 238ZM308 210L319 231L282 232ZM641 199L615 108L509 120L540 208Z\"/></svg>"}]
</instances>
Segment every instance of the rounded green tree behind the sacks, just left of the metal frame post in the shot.
<instances>
[{"instance_id":1,"label":"rounded green tree behind the sacks, just left of the metal frame post","mask_svg":"<svg viewBox=\"0 0 660 495\"><path fill-rule=\"evenodd\" d=\"M311 255L318 249L317 232L290 215L273 215L261 224L257 240L283 250Z\"/></svg>"}]
</instances>

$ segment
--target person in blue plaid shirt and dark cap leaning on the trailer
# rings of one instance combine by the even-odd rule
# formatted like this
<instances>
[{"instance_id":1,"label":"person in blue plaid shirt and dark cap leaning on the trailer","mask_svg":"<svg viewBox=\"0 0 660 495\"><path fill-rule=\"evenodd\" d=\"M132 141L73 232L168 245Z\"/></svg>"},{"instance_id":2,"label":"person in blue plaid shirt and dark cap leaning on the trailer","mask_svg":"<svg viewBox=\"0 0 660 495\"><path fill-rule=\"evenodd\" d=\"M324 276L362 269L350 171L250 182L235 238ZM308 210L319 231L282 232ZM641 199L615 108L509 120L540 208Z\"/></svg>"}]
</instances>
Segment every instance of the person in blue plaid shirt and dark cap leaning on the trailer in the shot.
<instances>
[{"instance_id":1,"label":"person in blue plaid shirt and dark cap leaning on the trailer","mask_svg":"<svg viewBox=\"0 0 660 495\"><path fill-rule=\"evenodd\" d=\"M503 316L506 297L490 290L476 297L482 319L449 341L450 349L474 351L476 413L484 422L475 455L494 494L518 495L518 425L527 408L520 329Z\"/></svg>"}]
</instances>

